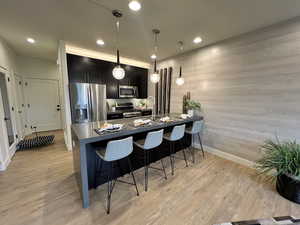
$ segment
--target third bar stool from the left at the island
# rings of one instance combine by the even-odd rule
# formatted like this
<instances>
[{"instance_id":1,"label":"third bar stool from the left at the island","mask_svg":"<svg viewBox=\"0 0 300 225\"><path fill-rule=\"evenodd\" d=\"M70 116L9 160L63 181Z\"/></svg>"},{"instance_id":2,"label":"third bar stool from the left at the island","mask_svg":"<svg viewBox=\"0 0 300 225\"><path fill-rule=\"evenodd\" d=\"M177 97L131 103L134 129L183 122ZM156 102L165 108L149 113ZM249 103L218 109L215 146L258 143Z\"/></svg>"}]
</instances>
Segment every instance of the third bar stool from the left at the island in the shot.
<instances>
[{"instance_id":1,"label":"third bar stool from the left at the island","mask_svg":"<svg viewBox=\"0 0 300 225\"><path fill-rule=\"evenodd\" d=\"M173 127L171 133L165 134L164 139L170 143L170 161L171 161L171 168L172 168L172 175L174 175L174 167L175 167L175 143L181 140L184 137L185 131L185 124ZM182 143L180 142L181 147ZM185 160L185 164L188 167L188 162L186 159L186 154L184 148L182 149L183 157Z\"/></svg>"}]
</instances>

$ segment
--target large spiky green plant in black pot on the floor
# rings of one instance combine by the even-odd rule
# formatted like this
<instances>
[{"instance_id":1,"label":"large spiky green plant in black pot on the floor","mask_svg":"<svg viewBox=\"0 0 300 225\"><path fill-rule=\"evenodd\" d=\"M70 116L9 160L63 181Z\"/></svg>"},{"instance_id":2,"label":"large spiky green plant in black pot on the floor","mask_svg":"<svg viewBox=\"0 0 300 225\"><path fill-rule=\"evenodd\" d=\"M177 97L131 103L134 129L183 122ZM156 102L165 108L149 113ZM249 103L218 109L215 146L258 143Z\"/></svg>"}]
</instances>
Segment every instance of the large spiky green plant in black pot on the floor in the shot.
<instances>
[{"instance_id":1,"label":"large spiky green plant in black pot on the floor","mask_svg":"<svg viewBox=\"0 0 300 225\"><path fill-rule=\"evenodd\" d=\"M262 173L273 172L278 193L300 204L300 145L296 141L267 140L257 161Z\"/></svg>"}]
</instances>

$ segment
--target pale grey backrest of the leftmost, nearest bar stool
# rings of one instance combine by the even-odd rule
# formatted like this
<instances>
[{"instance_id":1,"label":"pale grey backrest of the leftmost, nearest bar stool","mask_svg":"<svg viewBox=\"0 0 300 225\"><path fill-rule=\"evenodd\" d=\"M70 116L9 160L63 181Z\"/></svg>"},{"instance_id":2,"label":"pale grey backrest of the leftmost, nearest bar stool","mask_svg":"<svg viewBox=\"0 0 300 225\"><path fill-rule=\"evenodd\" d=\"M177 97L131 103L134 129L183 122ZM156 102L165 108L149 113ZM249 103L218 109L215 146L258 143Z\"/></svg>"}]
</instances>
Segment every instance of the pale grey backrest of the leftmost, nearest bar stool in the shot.
<instances>
[{"instance_id":1,"label":"pale grey backrest of the leftmost, nearest bar stool","mask_svg":"<svg viewBox=\"0 0 300 225\"><path fill-rule=\"evenodd\" d=\"M132 137L121 140L109 141L104 155L105 161L115 161L123 159L133 151Z\"/></svg>"}]
</instances>

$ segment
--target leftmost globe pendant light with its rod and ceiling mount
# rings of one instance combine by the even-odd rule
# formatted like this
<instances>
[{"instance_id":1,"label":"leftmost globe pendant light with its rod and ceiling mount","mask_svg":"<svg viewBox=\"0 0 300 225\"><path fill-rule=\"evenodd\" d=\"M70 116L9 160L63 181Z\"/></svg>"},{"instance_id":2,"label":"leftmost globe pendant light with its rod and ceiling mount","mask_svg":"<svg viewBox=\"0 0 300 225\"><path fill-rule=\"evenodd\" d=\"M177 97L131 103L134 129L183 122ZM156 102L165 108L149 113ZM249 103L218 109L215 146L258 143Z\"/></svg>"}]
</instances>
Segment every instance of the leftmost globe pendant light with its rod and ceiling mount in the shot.
<instances>
[{"instance_id":1,"label":"leftmost globe pendant light with its rod and ceiling mount","mask_svg":"<svg viewBox=\"0 0 300 225\"><path fill-rule=\"evenodd\" d=\"M116 35L116 47L117 47L117 65L112 71L113 77L117 80L122 80L125 77L125 70L120 65L120 51L119 51L119 31L120 31L120 22L119 19L122 17L122 13L119 10L113 10L112 14L116 17L116 27L117 27L117 35Z\"/></svg>"}]
</instances>

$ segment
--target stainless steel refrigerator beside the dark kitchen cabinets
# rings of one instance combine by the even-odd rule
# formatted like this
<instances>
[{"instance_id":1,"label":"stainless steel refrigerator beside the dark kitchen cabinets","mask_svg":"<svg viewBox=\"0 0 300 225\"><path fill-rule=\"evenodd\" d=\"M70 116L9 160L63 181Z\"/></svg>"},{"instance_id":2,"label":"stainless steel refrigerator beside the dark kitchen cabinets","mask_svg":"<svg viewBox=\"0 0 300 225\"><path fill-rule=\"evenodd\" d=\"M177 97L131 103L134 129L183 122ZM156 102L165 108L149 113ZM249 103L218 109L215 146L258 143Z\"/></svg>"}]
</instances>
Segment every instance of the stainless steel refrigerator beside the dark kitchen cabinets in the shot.
<instances>
[{"instance_id":1,"label":"stainless steel refrigerator beside the dark kitchen cabinets","mask_svg":"<svg viewBox=\"0 0 300 225\"><path fill-rule=\"evenodd\" d=\"M106 85L71 83L72 123L106 120Z\"/></svg>"}]
</instances>

